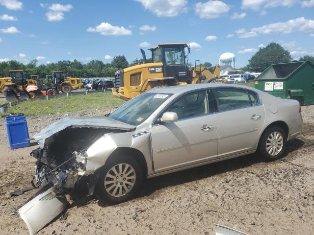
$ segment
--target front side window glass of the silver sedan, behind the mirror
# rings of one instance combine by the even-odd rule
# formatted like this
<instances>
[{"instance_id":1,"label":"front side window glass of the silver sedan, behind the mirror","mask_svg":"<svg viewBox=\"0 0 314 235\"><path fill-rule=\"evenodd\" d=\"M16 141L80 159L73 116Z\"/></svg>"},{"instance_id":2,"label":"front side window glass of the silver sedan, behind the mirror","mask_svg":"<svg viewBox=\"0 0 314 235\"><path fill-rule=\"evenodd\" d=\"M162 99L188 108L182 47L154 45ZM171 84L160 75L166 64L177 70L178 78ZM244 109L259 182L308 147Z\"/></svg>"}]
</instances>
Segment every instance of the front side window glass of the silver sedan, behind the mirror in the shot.
<instances>
[{"instance_id":1,"label":"front side window glass of the silver sedan, behind the mirror","mask_svg":"<svg viewBox=\"0 0 314 235\"><path fill-rule=\"evenodd\" d=\"M175 112L178 115L178 120L208 114L209 104L206 91L184 94L163 113L165 112Z\"/></svg>"}]
</instances>

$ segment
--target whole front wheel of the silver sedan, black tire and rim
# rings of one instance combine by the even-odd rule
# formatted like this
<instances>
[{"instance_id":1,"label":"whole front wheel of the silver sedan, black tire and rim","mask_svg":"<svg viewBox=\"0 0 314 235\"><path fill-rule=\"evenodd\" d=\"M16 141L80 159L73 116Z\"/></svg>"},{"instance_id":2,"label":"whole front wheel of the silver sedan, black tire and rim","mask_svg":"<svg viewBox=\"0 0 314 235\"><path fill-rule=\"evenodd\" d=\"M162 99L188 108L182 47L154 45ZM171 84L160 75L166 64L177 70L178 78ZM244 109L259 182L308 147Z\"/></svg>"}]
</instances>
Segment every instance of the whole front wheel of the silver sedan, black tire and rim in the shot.
<instances>
[{"instance_id":1,"label":"whole front wheel of the silver sedan, black tire and rim","mask_svg":"<svg viewBox=\"0 0 314 235\"><path fill-rule=\"evenodd\" d=\"M142 172L141 165L133 156L122 155L110 158L101 169L96 196L107 204L128 201L142 183Z\"/></svg>"}]
</instances>

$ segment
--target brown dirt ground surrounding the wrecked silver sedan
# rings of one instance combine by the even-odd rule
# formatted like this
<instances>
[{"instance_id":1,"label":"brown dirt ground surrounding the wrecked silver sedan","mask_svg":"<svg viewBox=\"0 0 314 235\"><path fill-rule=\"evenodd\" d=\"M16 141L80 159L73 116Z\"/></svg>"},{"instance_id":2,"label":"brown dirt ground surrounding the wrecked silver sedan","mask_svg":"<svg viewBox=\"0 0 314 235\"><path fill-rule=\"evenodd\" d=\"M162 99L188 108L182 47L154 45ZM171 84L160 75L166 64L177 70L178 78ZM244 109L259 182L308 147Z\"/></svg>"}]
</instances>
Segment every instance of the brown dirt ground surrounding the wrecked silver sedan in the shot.
<instances>
[{"instance_id":1,"label":"brown dirt ground surrounding the wrecked silver sedan","mask_svg":"<svg viewBox=\"0 0 314 235\"><path fill-rule=\"evenodd\" d=\"M71 117L104 115L84 110ZM303 106L303 134L289 141L282 160L261 162L248 155L147 180L137 197L116 206L98 200L72 205L65 221L55 219L41 235L212 235L213 224L249 235L314 234L314 105ZM67 115L27 118L30 136ZM5 119L0 118L0 234L27 235L12 214L35 190L30 187L36 148L10 150ZM310 169L312 168L312 169Z\"/></svg>"}]
</instances>

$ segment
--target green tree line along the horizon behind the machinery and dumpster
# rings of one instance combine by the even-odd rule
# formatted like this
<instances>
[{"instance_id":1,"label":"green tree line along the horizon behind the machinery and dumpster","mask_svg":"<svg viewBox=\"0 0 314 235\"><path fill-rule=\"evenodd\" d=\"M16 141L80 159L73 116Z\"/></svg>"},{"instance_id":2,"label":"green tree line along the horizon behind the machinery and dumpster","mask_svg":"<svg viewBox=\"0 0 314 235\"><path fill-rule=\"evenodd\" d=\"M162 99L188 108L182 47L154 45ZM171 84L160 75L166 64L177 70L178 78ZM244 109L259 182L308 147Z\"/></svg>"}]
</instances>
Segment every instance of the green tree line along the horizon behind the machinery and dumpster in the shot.
<instances>
[{"instance_id":1,"label":"green tree line along the horizon behind the machinery and dumpster","mask_svg":"<svg viewBox=\"0 0 314 235\"><path fill-rule=\"evenodd\" d=\"M314 63L314 56L304 55L299 60L309 60ZM262 72L271 64L291 61L293 60L288 50L285 50L278 43L270 43L266 47L261 47L249 59L248 65L240 70ZM146 63L150 62L152 62L152 59L148 58ZM37 60L32 60L26 65L16 60L0 62L0 76L4 76L4 73L10 70L23 70L26 72L27 77L32 74L39 74L40 77L45 77L46 75L50 75L52 71L64 71L74 74L77 77L114 77L116 71L134 65L133 63L129 63L124 55L115 56L111 63L104 63L101 60L92 60L87 64L83 64L78 60L62 60L46 65L37 65L37 63ZM142 64L142 59L139 59L138 63ZM193 66L192 63L188 64L188 67ZM206 68L211 67L211 63L205 62L202 66Z\"/></svg>"}]
</instances>

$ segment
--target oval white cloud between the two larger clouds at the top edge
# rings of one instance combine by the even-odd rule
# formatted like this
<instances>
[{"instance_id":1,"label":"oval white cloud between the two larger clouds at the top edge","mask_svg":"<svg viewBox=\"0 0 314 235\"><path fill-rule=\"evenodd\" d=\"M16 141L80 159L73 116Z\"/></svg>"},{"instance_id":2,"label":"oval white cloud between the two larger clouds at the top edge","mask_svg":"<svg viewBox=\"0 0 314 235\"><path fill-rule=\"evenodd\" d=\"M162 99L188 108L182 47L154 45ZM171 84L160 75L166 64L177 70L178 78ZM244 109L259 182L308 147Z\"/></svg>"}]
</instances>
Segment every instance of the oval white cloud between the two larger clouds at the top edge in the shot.
<instances>
[{"instance_id":1,"label":"oval white cloud between the two larger clouds at the top edge","mask_svg":"<svg viewBox=\"0 0 314 235\"><path fill-rule=\"evenodd\" d=\"M217 18L228 13L230 6L218 0L197 2L194 6L195 13L204 19Z\"/></svg>"}]
</instances>

